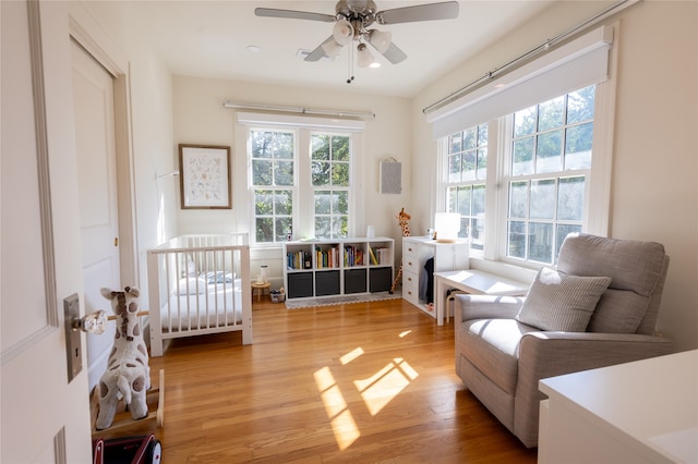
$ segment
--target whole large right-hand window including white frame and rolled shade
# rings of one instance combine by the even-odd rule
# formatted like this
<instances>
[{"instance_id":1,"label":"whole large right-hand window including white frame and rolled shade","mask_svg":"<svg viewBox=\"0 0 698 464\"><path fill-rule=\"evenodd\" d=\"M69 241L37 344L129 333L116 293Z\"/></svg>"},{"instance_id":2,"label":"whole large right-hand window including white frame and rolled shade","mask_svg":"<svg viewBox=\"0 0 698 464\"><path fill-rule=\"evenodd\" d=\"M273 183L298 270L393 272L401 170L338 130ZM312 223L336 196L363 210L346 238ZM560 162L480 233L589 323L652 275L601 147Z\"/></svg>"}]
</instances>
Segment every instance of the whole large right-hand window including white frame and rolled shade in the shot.
<instances>
[{"instance_id":1,"label":"whole large right-hand window including white frame and rolled shade","mask_svg":"<svg viewBox=\"0 0 698 464\"><path fill-rule=\"evenodd\" d=\"M609 232L615 34L591 29L424 109L441 141L435 210L460 212L472 257L537 268L569 232Z\"/></svg>"}]
</instances>

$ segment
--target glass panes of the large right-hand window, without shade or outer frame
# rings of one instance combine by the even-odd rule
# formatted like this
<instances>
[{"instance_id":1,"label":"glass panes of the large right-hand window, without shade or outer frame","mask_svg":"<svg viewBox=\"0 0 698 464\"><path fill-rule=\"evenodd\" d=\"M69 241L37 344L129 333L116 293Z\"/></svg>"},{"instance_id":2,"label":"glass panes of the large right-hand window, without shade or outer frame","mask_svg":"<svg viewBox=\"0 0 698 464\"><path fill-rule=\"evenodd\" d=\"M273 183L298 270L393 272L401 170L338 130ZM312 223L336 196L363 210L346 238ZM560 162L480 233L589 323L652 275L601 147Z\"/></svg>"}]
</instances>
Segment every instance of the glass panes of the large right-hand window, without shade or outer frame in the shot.
<instances>
[{"instance_id":1,"label":"glass panes of the large right-hand window, without shade or outer frame","mask_svg":"<svg viewBox=\"0 0 698 464\"><path fill-rule=\"evenodd\" d=\"M583 229L594 97L589 86L444 138L444 207L461 215L459 236L471 249L500 246L505 260L553 264L565 236ZM489 132L503 134L502 149L490 156L505 167L490 176ZM498 186L504 194L488 207L485 193ZM504 233L485 244L484 218L498 211Z\"/></svg>"}]
</instances>

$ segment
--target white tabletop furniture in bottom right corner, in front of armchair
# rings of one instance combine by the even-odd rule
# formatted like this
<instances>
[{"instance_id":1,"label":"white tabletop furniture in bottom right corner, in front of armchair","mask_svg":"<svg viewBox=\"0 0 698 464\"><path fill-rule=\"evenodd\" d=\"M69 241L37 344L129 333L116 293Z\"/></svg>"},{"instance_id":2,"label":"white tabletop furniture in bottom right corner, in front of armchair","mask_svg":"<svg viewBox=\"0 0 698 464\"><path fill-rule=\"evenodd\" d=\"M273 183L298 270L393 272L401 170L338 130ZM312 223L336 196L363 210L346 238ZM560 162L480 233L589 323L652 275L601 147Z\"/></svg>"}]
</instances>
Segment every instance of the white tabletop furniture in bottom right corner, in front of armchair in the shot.
<instances>
[{"instance_id":1,"label":"white tabletop furniture in bottom right corner, in front of armchair","mask_svg":"<svg viewBox=\"0 0 698 464\"><path fill-rule=\"evenodd\" d=\"M540 463L698 462L698 350L543 379Z\"/></svg>"}]
</instances>

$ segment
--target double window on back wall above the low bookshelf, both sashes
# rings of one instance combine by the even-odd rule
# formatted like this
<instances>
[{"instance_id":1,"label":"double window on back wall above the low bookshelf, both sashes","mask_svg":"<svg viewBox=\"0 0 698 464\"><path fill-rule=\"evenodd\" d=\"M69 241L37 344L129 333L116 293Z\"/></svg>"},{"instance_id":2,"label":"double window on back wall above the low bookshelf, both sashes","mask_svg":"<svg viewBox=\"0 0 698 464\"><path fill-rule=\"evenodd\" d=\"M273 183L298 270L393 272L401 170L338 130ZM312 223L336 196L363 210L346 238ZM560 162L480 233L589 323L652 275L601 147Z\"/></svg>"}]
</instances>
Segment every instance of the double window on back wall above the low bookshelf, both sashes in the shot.
<instances>
[{"instance_id":1,"label":"double window on back wall above the low bookshelf, both sashes","mask_svg":"<svg viewBox=\"0 0 698 464\"><path fill-rule=\"evenodd\" d=\"M353 137L310 127L249 129L255 243L350 235Z\"/></svg>"}]
</instances>

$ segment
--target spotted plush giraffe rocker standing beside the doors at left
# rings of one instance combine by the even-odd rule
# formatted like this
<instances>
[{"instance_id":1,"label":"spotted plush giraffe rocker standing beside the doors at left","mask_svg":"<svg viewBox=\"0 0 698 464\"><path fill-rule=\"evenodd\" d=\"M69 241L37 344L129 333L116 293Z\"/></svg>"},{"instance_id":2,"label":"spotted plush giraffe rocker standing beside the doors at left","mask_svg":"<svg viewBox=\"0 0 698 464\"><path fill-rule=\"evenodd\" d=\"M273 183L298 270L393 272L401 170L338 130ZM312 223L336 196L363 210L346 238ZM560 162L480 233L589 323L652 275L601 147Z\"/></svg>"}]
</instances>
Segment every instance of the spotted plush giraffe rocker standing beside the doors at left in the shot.
<instances>
[{"instance_id":1,"label":"spotted plush giraffe rocker standing beside the doors at left","mask_svg":"<svg viewBox=\"0 0 698 464\"><path fill-rule=\"evenodd\" d=\"M146 391L151 388L148 352L139 318L141 292L127 286L123 292L101 289L100 293L111 301L111 308L117 316L117 333L107 370L99 380L99 414L95 424L98 430L111 426L120 396L129 405L134 419L147 416Z\"/></svg>"}]
</instances>

